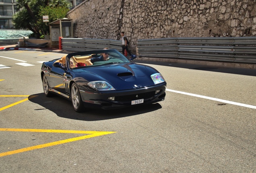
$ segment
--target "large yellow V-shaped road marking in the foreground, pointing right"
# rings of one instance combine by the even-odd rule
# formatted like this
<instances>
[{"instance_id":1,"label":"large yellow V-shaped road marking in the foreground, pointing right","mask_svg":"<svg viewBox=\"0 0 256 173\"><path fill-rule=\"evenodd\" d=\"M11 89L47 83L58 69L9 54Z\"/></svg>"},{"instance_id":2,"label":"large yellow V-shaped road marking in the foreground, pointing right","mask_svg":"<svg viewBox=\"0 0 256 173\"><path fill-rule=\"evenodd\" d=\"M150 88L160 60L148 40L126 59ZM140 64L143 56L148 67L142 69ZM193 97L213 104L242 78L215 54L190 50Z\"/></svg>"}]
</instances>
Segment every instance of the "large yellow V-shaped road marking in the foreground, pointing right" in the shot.
<instances>
[{"instance_id":1,"label":"large yellow V-shaped road marking in the foreground, pointing right","mask_svg":"<svg viewBox=\"0 0 256 173\"><path fill-rule=\"evenodd\" d=\"M81 136L81 137L74 137L74 138L70 138L70 139L64 139L64 140L56 141L56 142L45 143L45 144L41 144L41 145L35 145L35 146L32 146L32 147L27 147L27 148L23 148L23 149L17 149L17 150L14 150L14 151L7 151L7 152L4 152L4 153L0 153L0 157L7 156L7 155L12 155L12 154L17 154L17 153L22 153L22 152L25 152L25 151L31 151L31 150L34 150L34 149L41 149L41 148L50 147L50 146L54 146L54 145L69 143L69 142L73 142L73 141L79 141L79 140L88 139L88 138L91 138L91 137L97 137L97 136L101 136L101 135L108 135L108 134L111 134L111 133L116 133L116 132L109 132L109 131L72 131L72 130L51 130L51 129L47 130L47 129L2 129L2 128L0 128L0 131L90 134L90 135L85 135L85 136Z\"/></svg>"}]
</instances>

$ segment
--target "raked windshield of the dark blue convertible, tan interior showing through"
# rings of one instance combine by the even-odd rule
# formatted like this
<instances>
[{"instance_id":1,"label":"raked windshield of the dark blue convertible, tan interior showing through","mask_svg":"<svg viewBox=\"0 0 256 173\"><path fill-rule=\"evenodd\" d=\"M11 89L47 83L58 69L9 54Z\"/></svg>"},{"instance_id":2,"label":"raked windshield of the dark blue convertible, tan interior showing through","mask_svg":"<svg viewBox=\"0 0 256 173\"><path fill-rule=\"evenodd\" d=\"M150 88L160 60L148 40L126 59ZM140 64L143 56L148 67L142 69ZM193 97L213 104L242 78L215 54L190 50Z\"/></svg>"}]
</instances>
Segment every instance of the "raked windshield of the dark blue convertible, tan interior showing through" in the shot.
<instances>
[{"instance_id":1,"label":"raked windshield of the dark blue convertible, tan interior showing through","mask_svg":"<svg viewBox=\"0 0 256 173\"><path fill-rule=\"evenodd\" d=\"M70 68L129 62L126 56L115 49L75 52L67 57Z\"/></svg>"}]
</instances>

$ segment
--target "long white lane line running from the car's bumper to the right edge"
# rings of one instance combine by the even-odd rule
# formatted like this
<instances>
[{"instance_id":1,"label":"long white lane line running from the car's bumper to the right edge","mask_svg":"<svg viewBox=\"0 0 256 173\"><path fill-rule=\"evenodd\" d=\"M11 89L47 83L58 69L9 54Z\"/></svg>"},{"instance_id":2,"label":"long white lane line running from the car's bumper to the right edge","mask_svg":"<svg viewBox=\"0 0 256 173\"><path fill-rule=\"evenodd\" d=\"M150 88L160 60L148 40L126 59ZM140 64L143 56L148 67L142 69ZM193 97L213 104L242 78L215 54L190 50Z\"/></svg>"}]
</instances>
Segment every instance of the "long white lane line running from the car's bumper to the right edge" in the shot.
<instances>
[{"instance_id":1,"label":"long white lane line running from the car's bumper to the right edge","mask_svg":"<svg viewBox=\"0 0 256 173\"><path fill-rule=\"evenodd\" d=\"M203 99L209 99L209 100L213 100L213 101L219 101L219 102L227 103L227 104L231 104L231 105L237 105L237 106L242 106L242 107L248 107L248 108L256 109L256 106L246 105L244 103L237 103L237 102L233 102L233 101L227 101L227 100L223 100L223 99L217 99L217 98L213 98L213 97L196 95L196 94L192 94L192 93L186 93L186 92L176 91L176 90L171 90L171 89L166 89L166 91L170 91L170 92L173 92L173 93L184 94L184 95L190 95L190 96L194 96L194 97L200 97L200 98L203 98Z\"/></svg>"}]
</instances>

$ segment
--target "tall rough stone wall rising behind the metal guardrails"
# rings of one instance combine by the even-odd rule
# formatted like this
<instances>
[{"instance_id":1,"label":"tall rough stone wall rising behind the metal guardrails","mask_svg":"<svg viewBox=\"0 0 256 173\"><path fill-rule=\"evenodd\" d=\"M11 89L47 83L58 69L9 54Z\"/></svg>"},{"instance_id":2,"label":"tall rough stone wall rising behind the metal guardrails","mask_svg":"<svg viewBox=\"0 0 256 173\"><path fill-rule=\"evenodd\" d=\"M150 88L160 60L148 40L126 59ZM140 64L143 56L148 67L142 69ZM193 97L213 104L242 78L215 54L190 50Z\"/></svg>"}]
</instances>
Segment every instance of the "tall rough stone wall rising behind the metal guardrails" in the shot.
<instances>
[{"instance_id":1,"label":"tall rough stone wall rising behind the metal guardrails","mask_svg":"<svg viewBox=\"0 0 256 173\"><path fill-rule=\"evenodd\" d=\"M255 0L85 0L67 15L78 38L256 36Z\"/></svg>"}]
</instances>

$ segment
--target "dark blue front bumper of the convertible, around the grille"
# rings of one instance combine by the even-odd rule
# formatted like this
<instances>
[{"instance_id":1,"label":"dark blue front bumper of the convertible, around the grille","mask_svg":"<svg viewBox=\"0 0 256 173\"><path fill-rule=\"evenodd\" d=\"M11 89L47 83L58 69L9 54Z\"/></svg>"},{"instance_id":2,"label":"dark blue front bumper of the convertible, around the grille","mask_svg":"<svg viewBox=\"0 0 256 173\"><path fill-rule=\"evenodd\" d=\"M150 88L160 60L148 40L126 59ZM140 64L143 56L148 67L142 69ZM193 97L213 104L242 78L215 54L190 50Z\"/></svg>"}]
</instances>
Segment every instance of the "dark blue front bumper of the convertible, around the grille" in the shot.
<instances>
[{"instance_id":1,"label":"dark blue front bumper of the convertible, around the grille","mask_svg":"<svg viewBox=\"0 0 256 173\"><path fill-rule=\"evenodd\" d=\"M81 97L85 107L101 108L101 109L117 109L122 107L133 106L132 101L144 99L144 103L157 103L165 99L166 83L157 86L131 89L126 91L83 91L80 90ZM160 91L156 93L156 91ZM115 100L109 100L115 97Z\"/></svg>"}]
</instances>

